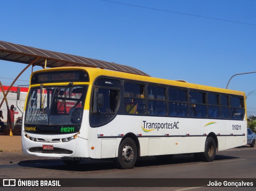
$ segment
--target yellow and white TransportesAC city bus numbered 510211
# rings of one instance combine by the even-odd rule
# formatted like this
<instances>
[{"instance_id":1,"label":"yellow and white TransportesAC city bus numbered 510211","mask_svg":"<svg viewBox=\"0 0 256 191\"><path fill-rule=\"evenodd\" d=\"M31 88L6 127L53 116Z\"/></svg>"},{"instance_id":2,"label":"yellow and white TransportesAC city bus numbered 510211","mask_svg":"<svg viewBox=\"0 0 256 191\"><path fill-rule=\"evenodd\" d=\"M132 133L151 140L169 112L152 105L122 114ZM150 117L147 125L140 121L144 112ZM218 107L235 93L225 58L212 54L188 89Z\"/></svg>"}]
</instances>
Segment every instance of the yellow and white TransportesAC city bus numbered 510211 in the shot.
<instances>
[{"instance_id":1,"label":"yellow and white TransportesAC city bus numbered 510211","mask_svg":"<svg viewBox=\"0 0 256 191\"><path fill-rule=\"evenodd\" d=\"M139 156L170 159L246 144L244 92L90 67L32 73L22 121L29 155L114 159L129 169Z\"/></svg>"}]
</instances>

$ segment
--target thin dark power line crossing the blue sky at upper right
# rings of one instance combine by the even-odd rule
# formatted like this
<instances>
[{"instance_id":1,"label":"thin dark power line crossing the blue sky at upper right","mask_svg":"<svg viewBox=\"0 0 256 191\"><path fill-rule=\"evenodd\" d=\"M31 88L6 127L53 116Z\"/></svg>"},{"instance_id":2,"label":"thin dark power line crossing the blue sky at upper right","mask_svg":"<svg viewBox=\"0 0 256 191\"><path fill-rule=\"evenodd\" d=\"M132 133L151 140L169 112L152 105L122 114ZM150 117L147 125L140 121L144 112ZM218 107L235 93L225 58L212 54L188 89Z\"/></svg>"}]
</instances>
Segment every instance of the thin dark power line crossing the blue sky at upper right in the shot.
<instances>
[{"instance_id":1,"label":"thin dark power line crossing the blue sky at upper right","mask_svg":"<svg viewBox=\"0 0 256 191\"><path fill-rule=\"evenodd\" d=\"M180 13L180 12L174 12L174 11L169 11L169 10L156 9L156 8L150 8L150 7L144 7L144 6L138 6L138 5L132 5L132 4L108 1L108 0L101 0L101 1L106 1L106 2L110 2L110 3L116 3L116 4L122 4L122 5L128 5L128 6L134 6L134 7L145 8L145 9L152 9L152 10L176 13L176 14L183 14L183 15L188 15L188 16L196 16L196 17L201 17L201 18L208 18L208 19L214 19L214 20L222 20L222 21L226 21L226 22L235 22L235 23L239 23L239 24L249 24L249 25L256 26L256 24L251 24L251 23L246 23L246 22L238 22L238 21L233 21L233 20L225 20L225 19L212 18L212 17L206 17L206 16L199 16L199 15L193 15L193 14L187 14L187 13Z\"/></svg>"}]
</instances>

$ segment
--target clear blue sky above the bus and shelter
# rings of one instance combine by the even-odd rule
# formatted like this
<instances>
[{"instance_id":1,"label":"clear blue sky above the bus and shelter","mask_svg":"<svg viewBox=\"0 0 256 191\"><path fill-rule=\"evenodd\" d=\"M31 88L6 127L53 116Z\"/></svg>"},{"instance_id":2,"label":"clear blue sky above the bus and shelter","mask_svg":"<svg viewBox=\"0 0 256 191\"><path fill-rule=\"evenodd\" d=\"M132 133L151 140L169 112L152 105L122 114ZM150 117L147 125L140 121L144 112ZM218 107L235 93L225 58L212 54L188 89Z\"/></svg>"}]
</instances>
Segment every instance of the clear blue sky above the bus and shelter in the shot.
<instances>
[{"instance_id":1,"label":"clear blue sky above the bus and shelter","mask_svg":"<svg viewBox=\"0 0 256 191\"><path fill-rule=\"evenodd\" d=\"M234 74L256 71L255 10L254 0L8 0L0 40L226 88ZM25 67L0 60L0 81L9 86ZM29 84L31 71L15 86ZM256 115L255 79L228 85L246 93L248 116Z\"/></svg>"}]
</instances>

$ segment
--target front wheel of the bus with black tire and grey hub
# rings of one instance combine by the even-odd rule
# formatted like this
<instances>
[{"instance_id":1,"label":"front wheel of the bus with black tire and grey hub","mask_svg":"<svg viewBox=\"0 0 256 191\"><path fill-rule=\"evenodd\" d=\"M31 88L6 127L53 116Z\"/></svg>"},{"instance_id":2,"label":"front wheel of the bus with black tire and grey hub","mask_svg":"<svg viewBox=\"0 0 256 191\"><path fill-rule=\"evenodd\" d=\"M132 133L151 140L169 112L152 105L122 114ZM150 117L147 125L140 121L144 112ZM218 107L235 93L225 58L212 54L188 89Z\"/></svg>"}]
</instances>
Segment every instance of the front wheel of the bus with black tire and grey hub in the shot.
<instances>
[{"instance_id":1,"label":"front wheel of the bus with black tire and grey hub","mask_svg":"<svg viewBox=\"0 0 256 191\"><path fill-rule=\"evenodd\" d=\"M118 148L116 166L121 169L130 169L134 166L137 159L137 147L134 140L130 137L124 139Z\"/></svg>"}]
</instances>

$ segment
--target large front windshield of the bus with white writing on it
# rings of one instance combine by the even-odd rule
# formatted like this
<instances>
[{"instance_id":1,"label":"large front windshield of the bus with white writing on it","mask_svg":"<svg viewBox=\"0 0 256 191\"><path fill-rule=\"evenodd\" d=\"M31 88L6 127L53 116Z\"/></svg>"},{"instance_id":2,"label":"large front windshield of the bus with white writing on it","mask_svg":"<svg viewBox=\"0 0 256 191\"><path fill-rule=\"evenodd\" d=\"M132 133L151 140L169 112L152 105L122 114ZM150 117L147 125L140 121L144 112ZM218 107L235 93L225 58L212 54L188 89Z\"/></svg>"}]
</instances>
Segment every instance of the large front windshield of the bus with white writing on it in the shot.
<instances>
[{"instance_id":1,"label":"large front windshield of the bus with white writing on it","mask_svg":"<svg viewBox=\"0 0 256 191\"><path fill-rule=\"evenodd\" d=\"M88 86L39 86L28 94L26 125L80 124Z\"/></svg>"}]
</instances>

